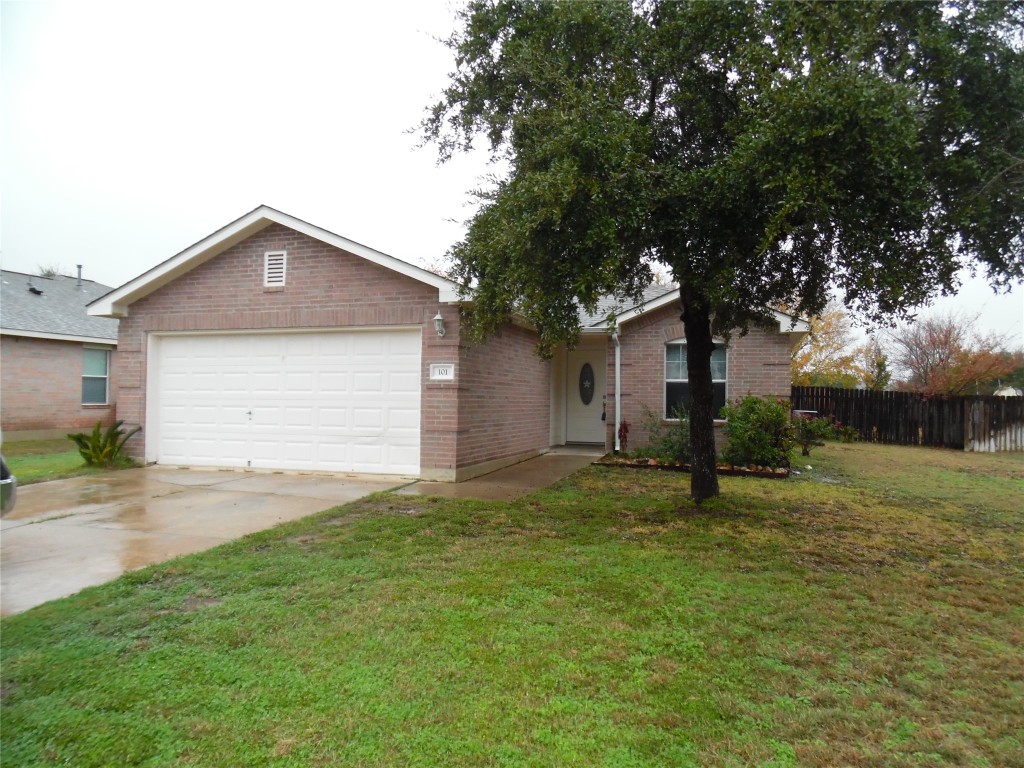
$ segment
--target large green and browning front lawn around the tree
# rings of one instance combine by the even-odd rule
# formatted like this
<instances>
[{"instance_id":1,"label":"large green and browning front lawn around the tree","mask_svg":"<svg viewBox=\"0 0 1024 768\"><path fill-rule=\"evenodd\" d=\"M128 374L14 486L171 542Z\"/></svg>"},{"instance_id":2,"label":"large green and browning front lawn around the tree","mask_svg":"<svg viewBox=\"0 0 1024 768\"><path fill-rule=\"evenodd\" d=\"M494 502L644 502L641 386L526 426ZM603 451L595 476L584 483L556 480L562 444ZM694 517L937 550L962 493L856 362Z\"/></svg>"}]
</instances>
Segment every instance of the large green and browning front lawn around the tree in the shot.
<instances>
[{"instance_id":1,"label":"large green and browning front lawn around the tree","mask_svg":"<svg viewBox=\"0 0 1024 768\"><path fill-rule=\"evenodd\" d=\"M1024 766L1024 457L377 496L3 620L8 766Z\"/></svg>"}]
</instances>

